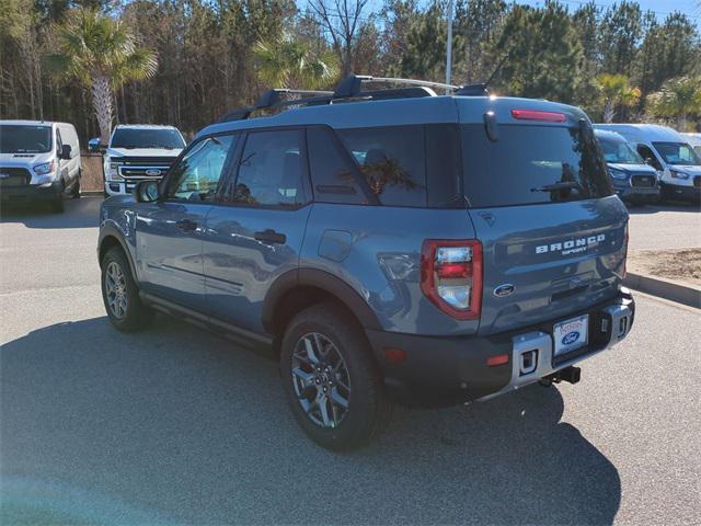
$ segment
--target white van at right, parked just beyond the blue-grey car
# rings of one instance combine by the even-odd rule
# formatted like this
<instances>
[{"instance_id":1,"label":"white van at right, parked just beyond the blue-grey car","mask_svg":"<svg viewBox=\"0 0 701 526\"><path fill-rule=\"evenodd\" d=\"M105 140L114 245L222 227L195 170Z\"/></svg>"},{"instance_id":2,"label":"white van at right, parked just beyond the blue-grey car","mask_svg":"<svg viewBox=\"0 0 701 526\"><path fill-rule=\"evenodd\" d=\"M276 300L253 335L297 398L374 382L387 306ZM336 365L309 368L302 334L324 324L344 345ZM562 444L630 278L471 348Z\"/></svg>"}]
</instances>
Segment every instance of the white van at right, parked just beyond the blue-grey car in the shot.
<instances>
[{"instance_id":1,"label":"white van at right, parked just beyond the blue-grey car","mask_svg":"<svg viewBox=\"0 0 701 526\"><path fill-rule=\"evenodd\" d=\"M657 170L663 201L701 201L701 157L679 133L656 124L596 124L635 145L645 162Z\"/></svg>"}]
</instances>

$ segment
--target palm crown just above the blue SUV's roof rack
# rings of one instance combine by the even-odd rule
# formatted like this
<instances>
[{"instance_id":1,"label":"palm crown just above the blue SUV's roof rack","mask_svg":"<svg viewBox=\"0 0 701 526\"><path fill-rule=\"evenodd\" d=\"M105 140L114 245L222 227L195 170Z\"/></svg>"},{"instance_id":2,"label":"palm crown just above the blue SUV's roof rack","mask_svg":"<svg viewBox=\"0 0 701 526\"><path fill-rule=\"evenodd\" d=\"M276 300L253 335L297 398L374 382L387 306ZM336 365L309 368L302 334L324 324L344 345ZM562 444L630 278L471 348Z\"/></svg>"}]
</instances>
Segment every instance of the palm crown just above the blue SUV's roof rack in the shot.
<instances>
[{"instance_id":1,"label":"palm crown just above the blue SUV's roof rack","mask_svg":"<svg viewBox=\"0 0 701 526\"><path fill-rule=\"evenodd\" d=\"M314 90L332 83L338 62L331 52L314 53L288 37L260 41L253 46L261 82L272 88Z\"/></svg>"}]
</instances>

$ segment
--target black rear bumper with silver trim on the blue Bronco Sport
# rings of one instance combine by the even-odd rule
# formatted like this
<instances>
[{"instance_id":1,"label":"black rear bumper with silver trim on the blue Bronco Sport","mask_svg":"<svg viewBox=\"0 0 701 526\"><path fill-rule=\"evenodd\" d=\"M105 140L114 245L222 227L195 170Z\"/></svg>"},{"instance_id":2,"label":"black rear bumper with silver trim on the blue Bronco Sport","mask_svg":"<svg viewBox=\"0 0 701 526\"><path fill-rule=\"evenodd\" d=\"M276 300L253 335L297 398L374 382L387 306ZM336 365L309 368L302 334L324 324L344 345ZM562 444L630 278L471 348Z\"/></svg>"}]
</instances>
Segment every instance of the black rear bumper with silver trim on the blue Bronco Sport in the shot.
<instances>
[{"instance_id":1,"label":"black rear bumper with silver trim on the blue Bronco Sport","mask_svg":"<svg viewBox=\"0 0 701 526\"><path fill-rule=\"evenodd\" d=\"M486 399L538 381L623 340L630 332L635 302L622 288L611 300L538 325L490 336L418 336L367 330L368 340L384 375L390 396L414 407L449 407ZM567 355L553 357L553 324L589 315L589 343ZM401 348L405 359L392 363L387 348ZM536 351L532 369L524 373L524 355ZM486 361L508 355L503 365Z\"/></svg>"}]
</instances>

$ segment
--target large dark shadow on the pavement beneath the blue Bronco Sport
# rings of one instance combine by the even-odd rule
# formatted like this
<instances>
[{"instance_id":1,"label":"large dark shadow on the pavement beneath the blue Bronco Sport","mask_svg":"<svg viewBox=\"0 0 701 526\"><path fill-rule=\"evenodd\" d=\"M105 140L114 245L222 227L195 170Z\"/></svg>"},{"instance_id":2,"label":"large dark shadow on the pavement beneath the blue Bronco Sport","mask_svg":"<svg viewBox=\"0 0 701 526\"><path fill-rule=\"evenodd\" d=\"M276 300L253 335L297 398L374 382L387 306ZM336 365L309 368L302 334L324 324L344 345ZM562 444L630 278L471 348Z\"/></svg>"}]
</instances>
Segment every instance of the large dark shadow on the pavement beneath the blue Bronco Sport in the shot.
<instances>
[{"instance_id":1,"label":"large dark shadow on the pavement beneath the blue Bronco Sport","mask_svg":"<svg viewBox=\"0 0 701 526\"><path fill-rule=\"evenodd\" d=\"M296 426L274 362L176 320L55 324L0 358L3 524L611 524L621 499L555 388L398 409L334 455Z\"/></svg>"}]
</instances>

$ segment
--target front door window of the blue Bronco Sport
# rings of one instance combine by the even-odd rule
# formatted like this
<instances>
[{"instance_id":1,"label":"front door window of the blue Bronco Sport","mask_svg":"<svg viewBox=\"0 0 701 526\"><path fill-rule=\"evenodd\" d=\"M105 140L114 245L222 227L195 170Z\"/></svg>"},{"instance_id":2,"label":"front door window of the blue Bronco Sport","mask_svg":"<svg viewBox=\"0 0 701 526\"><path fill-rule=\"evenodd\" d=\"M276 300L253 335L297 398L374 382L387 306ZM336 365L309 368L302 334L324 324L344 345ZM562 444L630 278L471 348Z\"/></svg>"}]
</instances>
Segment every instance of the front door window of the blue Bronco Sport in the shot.
<instances>
[{"instance_id":1,"label":"front door window of the blue Bronco Sport","mask_svg":"<svg viewBox=\"0 0 701 526\"><path fill-rule=\"evenodd\" d=\"M227 156L233 150L237 137L208 137L195 145L173 168L168 196L188 201L212 201Z\"/></svg>"}]
</instances>

